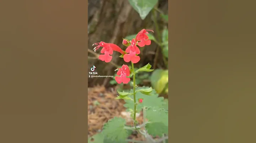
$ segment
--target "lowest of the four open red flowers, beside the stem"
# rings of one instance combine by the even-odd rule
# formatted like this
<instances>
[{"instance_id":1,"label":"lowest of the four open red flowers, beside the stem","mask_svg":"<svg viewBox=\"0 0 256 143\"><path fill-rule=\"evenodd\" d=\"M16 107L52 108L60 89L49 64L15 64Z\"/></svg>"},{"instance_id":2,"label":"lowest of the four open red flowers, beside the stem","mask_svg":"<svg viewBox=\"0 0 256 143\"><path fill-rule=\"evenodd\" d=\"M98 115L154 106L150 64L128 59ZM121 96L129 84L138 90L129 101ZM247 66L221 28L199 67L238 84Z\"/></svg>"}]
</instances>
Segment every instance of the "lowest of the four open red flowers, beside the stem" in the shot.
<instances>
[{"instance_id":1,"label":"lowest of the four open red flowers, beside the stem","mask_svg":"<svg viewBox=\"0 0 256 143\"><path fill-rule=\"evenodd\" d=\"M116 76L115 80L118 84L121 84L123 82L123 84L128 84L128 82L130 81L130 78L127 78L126 76L130 76L130 69L128 67L128 65L122 65L122 68L118 68L119 70L117 71L117 75L120 76Z\"/></svg>"}]
</instances>

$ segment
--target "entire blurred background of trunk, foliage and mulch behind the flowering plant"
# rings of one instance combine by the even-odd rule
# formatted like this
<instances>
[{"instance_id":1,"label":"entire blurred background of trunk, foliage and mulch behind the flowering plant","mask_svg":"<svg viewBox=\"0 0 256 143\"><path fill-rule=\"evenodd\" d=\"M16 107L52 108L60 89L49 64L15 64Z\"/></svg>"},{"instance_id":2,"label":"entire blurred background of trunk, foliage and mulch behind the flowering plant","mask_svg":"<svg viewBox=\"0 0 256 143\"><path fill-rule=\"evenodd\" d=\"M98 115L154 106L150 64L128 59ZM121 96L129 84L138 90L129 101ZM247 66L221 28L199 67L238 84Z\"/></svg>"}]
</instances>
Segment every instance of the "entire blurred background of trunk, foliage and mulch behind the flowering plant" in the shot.
<instances>
[{"instance_id":1,"label":"entire blurred background of trunk, foliage and mulch behind the flowering plant","mask_svg":"<svg viewBox=\"0 0 256 143\"><path fill-rule=\"evenodd\" d=\"M140 61L134 66L138 69L149 63L154 71L137 75L136 84L152 86L168 102L168 0L89 0L88 71L95 66L98 75L115 76L114 70L126 63L120 53L114 52L111 62L106 63L98 59L101 48L94 52L92 45L104 41L125 50L123 38L132 40L142 29L154 33L149 32L151 45L140 48ZM114 98L117 90L129 90L131 82L117 85L114 78L88 78L88 86L89 137L101 132L103 124L113 116L130 120L124 102ZM137 134L131 138L140 140Z\"/></svg>"}]
</instances>

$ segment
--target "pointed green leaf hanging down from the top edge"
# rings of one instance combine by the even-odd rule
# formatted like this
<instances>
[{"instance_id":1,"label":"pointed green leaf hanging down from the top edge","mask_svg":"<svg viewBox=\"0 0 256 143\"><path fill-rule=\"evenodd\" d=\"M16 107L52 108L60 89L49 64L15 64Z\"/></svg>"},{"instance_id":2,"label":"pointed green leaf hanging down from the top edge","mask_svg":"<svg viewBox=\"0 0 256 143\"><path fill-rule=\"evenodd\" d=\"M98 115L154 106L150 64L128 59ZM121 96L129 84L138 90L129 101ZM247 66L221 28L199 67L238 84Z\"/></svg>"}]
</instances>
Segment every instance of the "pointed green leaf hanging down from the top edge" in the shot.
<instances>
[{"instance_id":1,"label":"pointed green leaf hanging down from the top edge","mask_svg":"<svg viewBox=\"0 0 256 143\"><path fill-rule=\"evenodd\" d=\"M134 10L139 13L140 18L145 19L158 0L129 0L129 2Z\"/></svg>"}]
</instances>

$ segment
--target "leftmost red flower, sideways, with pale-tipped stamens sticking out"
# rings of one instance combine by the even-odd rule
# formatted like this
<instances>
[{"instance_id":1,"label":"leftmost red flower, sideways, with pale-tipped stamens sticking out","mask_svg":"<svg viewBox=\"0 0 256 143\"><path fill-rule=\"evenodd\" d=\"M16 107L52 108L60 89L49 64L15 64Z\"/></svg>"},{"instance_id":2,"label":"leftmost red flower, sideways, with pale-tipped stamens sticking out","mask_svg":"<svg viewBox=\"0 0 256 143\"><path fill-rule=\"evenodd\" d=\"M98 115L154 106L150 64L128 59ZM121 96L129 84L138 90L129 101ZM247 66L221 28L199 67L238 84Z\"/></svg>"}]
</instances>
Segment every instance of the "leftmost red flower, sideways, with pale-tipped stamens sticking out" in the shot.
<instances>
[{"instance_id":1,"label":"leftmost red flower, sideways, with pale-tipped stamens sticking out","mask_svg":"<svg viewBox=\"0 0 256 143\"><path fill-rule=\"evenodd\" d=\"M116 44L105 43L105 42L101 41L101 42L95 43L94 45L97 45L96 47L94 47L95 52L96 52L96 50L98 50L98 48L103 47L101 49L101 53L104 53L104 55L100 55L99 59L101 61L105 61L106 63L111 61L112 56L110 56L110 55L113 54L113 51L117 51L121 54L124 54L123 50L119 46L117 46Z\"/></svg>"}]
</instances>

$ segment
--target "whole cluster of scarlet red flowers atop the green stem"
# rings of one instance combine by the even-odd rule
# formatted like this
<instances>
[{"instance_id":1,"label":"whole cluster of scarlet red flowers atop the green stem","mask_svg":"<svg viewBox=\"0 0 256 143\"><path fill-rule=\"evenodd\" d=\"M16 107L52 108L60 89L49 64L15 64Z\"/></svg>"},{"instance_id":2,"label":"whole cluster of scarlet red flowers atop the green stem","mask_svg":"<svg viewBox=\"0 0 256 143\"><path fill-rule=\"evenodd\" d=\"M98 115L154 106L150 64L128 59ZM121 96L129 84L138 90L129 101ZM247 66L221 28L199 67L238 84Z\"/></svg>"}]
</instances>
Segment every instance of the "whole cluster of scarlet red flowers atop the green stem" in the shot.
<instances>
[{"instance_id":1,"label":"whole cluster of scarlet red flowers atop the green stem","mask_svg":"<svg viewBox=\"0 0 256 143\"><path fill-rule=\"evenodd\" d=\"M132 63L138 63L140 60L140 57L138 56L140 54L140 50L137 47L137 45L140 47L144 47L145 45L151 44L151 41L149 40L149 37L147 35L147 34L149 34L148 31L153 32L152 30L142 29L136 35L136 37L134 39L132 39L132 41L123 40L124 45L126 45L126 46L129 45L126 48L125 52L116 44L105 43L102 41L94 44L94 45L97 45L94 48L94 51L96 52L96 50L98 48L103 47L101 49L101 53L103 53L103 55L100 55L98 58L101 61L105 61L106 63L111 61L111 59L112 59L111 55L113 54L113 51L117 51L117 52L121 53L123 55L123 59L125 62L131 61ZM119 76L116 76L115 80L118 84L121 84L122 82L124 84L127 84L130 81L130 78L127 78L127 76L130 76L130 69L129 69L128 65L122 65L122 68L118 69L117 75L119 75Z\"/></svg>"}]
</instances>

